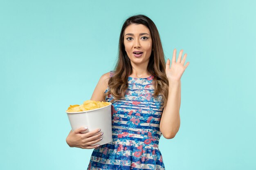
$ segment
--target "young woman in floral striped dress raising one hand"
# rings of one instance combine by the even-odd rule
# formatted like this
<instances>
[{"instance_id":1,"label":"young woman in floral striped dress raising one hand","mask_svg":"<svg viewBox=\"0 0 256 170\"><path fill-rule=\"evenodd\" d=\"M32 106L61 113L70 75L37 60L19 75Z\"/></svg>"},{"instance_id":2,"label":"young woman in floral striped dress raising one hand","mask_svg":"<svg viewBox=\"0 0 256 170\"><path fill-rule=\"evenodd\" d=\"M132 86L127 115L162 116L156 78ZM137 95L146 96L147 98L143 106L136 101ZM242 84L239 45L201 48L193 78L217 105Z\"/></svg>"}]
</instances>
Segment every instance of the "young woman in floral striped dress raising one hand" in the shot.
<instances>
[{"instance_id":1,"label":"young woman in floral striped dress raising one hand","mask_svg":"<svg viewBox=\"0 0 256 170\"><path fill-rule=\"evenodd\" d=\"M180 128L181 76L186 54L176 49L165 63L157 27L145 15L128 18L121 29L115 71L101 76L91 100L112 102L112 142L100 129L70 131L70 147L92 149L88 170L164 170L159 139L172 139ZM170 67L171 63L171 67Z\"/></svg>"}]
</instances>

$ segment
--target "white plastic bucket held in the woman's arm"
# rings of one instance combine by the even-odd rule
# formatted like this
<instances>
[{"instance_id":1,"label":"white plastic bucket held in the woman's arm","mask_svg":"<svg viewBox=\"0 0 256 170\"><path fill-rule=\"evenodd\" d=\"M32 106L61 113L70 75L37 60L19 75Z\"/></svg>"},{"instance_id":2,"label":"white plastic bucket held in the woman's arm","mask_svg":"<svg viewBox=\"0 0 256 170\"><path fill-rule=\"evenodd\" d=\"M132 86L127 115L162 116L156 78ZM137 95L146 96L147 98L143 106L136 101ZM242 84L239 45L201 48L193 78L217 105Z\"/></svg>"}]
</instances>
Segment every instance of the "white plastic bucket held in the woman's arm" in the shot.
<instances>
[{"instance_id":1,"label":"white plastic bucket held in the woman's arm","mask_svg":"<svg viewBox=\"0 0 256 170\"><path fill-rule=\"evenodd\" d=\"M66 112L72 131L77 128L87 127L88 129L86 131L81 132L86 133L100 128L101 132L104 132L101 136L103 139L96 144L103 145L110 143L112 141L111 105L83 112Z\"/></svg>"}]
</instances>

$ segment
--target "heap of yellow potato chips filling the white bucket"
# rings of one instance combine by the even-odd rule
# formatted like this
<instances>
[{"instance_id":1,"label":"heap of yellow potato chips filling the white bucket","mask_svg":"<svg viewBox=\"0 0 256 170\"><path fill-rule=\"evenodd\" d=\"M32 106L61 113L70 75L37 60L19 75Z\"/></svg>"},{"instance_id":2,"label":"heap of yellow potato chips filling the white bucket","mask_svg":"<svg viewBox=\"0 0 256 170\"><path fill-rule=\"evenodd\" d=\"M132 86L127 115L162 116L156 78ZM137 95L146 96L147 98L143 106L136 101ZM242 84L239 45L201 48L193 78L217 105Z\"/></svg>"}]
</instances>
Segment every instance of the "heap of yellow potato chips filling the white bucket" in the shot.
<instances>
[{"instance_id":1,"label":"heap of yellow potato chips filling the white bucket","mask_svg":"<svg viewBox=\"0 0 256 170\"><path fill-rule=\"evenodd\" d=\"M99 102L99 101L94 101L94 100L86 100L85 102L83 102L83 104L78 105L70 105L70 107L68 107L67 112L82 112L82 111L87 111L87 110L93 110L93 109L97 109L97 108L102 108L105 106L110 105L110 102Z\"/></svg>"}]
</instances>

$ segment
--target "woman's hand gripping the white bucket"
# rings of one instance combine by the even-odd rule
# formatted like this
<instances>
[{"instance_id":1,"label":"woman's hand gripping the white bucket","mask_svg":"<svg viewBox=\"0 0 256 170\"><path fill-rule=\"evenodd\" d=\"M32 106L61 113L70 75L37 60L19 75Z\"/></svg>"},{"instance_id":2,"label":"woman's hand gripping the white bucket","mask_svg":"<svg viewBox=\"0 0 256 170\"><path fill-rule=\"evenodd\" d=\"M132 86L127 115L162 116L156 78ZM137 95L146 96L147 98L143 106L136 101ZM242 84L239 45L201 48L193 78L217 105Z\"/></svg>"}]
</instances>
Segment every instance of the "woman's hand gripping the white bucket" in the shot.
<instances>
[{"instance_id":1,"label":"woman's hand gripping the white bucket","mask_svg":"<svg viewBox=\"0 0 256 170\"><path fill-rule=\"evenodd\" d=\"M93 145L102 140L103 132L101 129L95 129L91 132L81 133L85 131L84 127L78 128L68 134L66 142L70 147L82 148L82 149L93 149L99 145Z\"/></svg>"}]
</instances>

